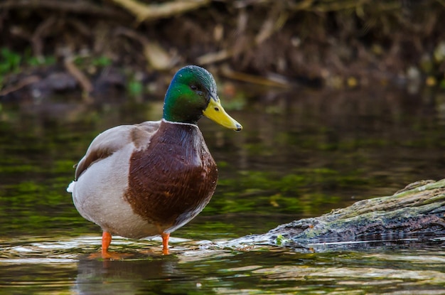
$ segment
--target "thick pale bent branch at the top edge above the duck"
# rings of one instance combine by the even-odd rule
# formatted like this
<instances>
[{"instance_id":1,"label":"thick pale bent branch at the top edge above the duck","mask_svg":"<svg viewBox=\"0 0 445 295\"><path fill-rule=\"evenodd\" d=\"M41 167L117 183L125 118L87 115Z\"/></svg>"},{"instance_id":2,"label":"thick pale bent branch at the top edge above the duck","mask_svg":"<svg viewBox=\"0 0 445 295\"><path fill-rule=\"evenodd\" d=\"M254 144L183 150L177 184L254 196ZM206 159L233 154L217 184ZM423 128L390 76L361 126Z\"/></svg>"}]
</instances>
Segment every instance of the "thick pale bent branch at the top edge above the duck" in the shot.
<instances>
[{"instance_id":1,"label":"thick pale bent branch at the top edge above the duck","mask_svg":"<svg viewBox=\"0 0 445 295\"><path fill-rule=\"evenodd\" d=\"M112 1L136 16L136 20L139 23L142 21L152 21L158 18L183 14L210 3L210 0L176 0L162 4L142 4L136 0Z\"/></svg>"}]
</instances>

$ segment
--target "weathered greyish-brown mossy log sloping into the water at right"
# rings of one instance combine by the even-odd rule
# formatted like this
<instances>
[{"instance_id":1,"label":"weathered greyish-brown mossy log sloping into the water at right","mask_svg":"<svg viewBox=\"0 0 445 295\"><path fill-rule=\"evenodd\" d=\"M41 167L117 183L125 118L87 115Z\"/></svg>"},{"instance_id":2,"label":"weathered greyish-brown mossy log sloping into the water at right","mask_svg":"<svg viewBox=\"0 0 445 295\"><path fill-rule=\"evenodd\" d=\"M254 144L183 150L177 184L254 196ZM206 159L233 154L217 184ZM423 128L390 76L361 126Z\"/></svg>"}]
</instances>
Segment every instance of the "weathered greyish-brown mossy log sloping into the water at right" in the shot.
<instances>
[{"instance_id":1,"label":"weathered greyish-brown mossy log sloping into the water at right","mask_svg":"<svg viewBox=\"0 0 445 295\"><path fill-rule=\"evenodd\" d=\"M323 242L369 240L428 240L445 237L445 179L418 181L394 195L360 200L347 208L316 218L279 225L262 235L249 235L230 244L305 247Z\"/></svg>"}]
</instances>

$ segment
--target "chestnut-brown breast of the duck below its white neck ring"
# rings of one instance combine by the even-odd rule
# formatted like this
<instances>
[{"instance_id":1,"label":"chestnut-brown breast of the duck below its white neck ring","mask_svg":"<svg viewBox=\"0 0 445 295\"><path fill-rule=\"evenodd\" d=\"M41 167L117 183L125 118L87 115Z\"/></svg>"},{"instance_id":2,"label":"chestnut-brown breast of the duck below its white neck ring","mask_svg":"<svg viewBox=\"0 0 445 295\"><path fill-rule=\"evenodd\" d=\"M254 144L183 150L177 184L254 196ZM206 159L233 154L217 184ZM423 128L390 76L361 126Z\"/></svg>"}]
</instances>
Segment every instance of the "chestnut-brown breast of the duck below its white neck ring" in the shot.
<instances>
[{"instance_id":1,"label":"chestnut-brown breast of the duck below its white neck ring","mask_svg":"<svg viewBox=\"0 0 445 295\"><path fill-rule=\"evenodd\" d=\"M124 198L160 230L184 224L212 197L218 171L198 127L161 122L146 149L130 159Z\"/></svg>"}]
</instances>

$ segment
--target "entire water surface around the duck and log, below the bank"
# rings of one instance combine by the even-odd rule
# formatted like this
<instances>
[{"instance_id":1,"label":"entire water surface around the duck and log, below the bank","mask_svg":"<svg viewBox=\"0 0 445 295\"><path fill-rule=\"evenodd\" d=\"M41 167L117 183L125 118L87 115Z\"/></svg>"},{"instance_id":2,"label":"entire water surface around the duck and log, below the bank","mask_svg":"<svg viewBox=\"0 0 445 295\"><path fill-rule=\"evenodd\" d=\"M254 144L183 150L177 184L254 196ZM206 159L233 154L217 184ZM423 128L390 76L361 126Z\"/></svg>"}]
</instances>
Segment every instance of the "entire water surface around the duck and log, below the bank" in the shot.
<instances>
[{"instance_id":1,"label":"entire water surface around the duck and log, below the bank","mask_svg":"<svg viewBox=\"0 0 445 295\"><path fill-rule=\"evenodd\" d=\"M444 178L444 94L262 90L223 102L245 129L200 121L220 171L210 204L173 233L170 256L159 239L115 237L123 261L95 258L100 229L65 189L99 132L159 119L161 100L3 102L0 294L445 294L441 239L306 252L226 243Z\"/></svg>"}]
</instances>

